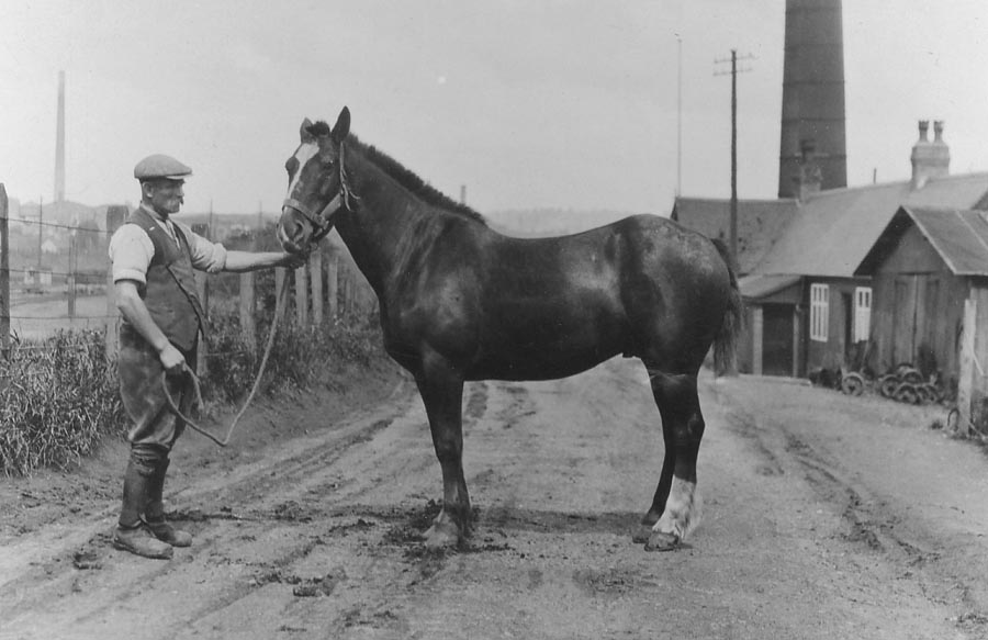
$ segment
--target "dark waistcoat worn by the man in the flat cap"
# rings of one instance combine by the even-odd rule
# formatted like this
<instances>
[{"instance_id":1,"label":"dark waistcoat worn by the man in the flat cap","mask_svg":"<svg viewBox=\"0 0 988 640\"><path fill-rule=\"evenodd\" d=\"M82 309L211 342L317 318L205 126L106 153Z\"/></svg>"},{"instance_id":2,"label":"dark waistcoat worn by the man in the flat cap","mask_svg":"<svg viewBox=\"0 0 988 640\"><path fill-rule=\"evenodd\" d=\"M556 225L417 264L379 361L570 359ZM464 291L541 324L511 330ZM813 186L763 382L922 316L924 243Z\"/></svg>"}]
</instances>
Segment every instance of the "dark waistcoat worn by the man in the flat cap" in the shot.
<instances>
[{"instance_id":1,"label":"dark waistcoat worn by the man in the flat cap","mask_svg":"<svg viewBox=\"0 0 988 640\"><path fill-rule=\"evenodd\" d=\"M172 224L178 245L146 211L138 207L126 224L147 233L155 255L147 268L147 284L138 288L151 319L176 347L190 350L200 329L205 333L205 312L199 300L192 268L192 250L178 225ZM124 321L126 322L126 321Z\"/></svg>"}]
</instances>

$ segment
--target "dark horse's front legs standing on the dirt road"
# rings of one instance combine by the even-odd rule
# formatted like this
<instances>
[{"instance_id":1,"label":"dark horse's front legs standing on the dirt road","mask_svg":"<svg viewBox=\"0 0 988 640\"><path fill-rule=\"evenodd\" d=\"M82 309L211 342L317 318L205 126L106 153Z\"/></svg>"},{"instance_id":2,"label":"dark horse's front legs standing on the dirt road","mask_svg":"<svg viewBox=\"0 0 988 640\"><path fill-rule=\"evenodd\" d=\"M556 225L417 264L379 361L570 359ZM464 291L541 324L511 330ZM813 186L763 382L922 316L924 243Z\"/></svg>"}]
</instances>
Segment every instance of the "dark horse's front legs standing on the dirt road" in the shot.
<instances>
[{"instance_id":1,"label":"dark horse's front legs standing on the dirt road","mask_svg":"<svg viewBox=\"0 0 988 640\"><path fill-rule=\"evenodd\" d=\"M471 532L472 512L463 478L463 379L445 362L416 377L442 468L442 510L426 531L428 547L450 547Z\"/></svg>"}]
</instances>

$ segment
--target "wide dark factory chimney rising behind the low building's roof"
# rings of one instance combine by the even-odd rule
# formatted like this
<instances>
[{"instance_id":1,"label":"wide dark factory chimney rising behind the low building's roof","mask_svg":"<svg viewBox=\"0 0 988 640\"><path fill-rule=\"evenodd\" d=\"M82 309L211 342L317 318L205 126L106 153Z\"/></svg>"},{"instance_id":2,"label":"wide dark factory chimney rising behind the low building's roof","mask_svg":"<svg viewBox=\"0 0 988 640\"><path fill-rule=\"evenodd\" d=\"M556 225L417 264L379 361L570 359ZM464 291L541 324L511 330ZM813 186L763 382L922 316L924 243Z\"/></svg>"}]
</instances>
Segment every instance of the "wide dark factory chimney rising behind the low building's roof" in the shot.
<instances>
[{"instance_id":1,"label":"wide dark factory chimney rising behind the low building's roof","mask_svg":"<svg viewBox=\"0 0 988 640\"><path fill-rule=\"evenodd\" d=\"M847 186L841 0L786 0L781 137L779 198Z\"/></svg>"}]
</instances>

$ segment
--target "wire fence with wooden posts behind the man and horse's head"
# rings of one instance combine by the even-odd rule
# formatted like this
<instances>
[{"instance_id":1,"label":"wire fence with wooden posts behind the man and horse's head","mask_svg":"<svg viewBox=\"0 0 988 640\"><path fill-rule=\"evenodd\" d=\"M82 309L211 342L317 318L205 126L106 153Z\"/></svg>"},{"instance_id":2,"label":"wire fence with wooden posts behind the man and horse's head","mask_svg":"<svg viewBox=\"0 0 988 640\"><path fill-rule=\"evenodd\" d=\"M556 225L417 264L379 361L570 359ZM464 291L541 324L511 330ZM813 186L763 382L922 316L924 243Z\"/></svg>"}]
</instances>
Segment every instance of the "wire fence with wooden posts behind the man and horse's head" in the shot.
<instances>
[{"instance_id":1,"label":"wire fence with wooden posts behind the man and horse's head","mask_svg":"<svg viewBox=\"0 0 988 640\"><path fill-rule=\"evenodd\" d=\"M66 329L105 332L108 353L115 355L120 314L113 300L109 245L130 210L71 206L22 206L19 215L10 217L0 183L0 351L7 357L45 349L46 338ZM193 224L192 228L220 239L228 249L280 250L270 224ZM287 313L301 324L377 306L373 292L338 242L324 242L306 266L293 273L278 269L271 280L273 285L268 282L262 288L254 273L197 273L207 313L211 306L233 310L250 336L256 334L262 299L273 299L281 287L294 289ZM229 352L203 353L202 359L225 355Z\"/></svg>"}]
</instances>

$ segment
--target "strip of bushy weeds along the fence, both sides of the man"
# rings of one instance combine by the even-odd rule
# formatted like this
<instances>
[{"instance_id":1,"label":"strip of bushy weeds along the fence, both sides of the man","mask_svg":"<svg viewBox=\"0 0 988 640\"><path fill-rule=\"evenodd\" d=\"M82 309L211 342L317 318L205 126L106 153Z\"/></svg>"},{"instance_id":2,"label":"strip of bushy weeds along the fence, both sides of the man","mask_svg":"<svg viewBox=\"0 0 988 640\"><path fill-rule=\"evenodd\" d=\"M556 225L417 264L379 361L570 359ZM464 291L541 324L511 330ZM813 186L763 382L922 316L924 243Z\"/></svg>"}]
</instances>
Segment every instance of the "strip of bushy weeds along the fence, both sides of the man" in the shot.
<instances>
[{"instance_id":1,"label":"strip of bushy weeds along the fence, both sides of the man","mask_svg":"<svg viewBox=\"0 0 988 640\"><path fill-rule=\"evenodd\" d=\"M216 296L211 305L202 379L207 406L238 404L254 384L273 317L273 270L259 271L257 283L260 310L254 349L240 332L233 299ZM279 324L262 395L332 383L340 364L367 366L383 355L380 328L369 315L338 317L318 327L300 327L293 319L287 314ZM19 345L8 360L0 359L0 473L65 469L90 453L103 436L126 434L130 420L120 401L116 362L108 362L104 353L102 330L77 330Z\"/></svg>"}]
</instances>

